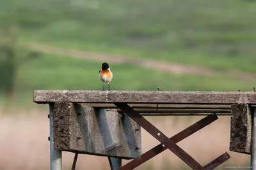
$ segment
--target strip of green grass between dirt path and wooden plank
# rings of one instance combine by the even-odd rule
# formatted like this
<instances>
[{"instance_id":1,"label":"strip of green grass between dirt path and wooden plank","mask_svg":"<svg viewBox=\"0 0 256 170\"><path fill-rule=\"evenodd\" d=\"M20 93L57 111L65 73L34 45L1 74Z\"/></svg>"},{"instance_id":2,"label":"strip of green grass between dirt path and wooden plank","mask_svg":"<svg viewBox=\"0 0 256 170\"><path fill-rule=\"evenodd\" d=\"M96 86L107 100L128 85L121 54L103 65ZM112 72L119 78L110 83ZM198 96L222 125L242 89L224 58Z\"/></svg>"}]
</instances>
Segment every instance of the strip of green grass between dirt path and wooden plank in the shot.
<instances>
[{"instance_id":1,"label":"strip of green grass between dirt path and wooden plank","mask_svg":"<svg viewBox=\"0 0 256 170\"><path fill-rule=\"evenodd\" d=\"M101 63L44 54L19 67L17 97L31 101L33 90L101 90ZM252 90L255 81L216 76L169 74L127 64L112 64L112 90Z\"/></svg>"}]
</instances>

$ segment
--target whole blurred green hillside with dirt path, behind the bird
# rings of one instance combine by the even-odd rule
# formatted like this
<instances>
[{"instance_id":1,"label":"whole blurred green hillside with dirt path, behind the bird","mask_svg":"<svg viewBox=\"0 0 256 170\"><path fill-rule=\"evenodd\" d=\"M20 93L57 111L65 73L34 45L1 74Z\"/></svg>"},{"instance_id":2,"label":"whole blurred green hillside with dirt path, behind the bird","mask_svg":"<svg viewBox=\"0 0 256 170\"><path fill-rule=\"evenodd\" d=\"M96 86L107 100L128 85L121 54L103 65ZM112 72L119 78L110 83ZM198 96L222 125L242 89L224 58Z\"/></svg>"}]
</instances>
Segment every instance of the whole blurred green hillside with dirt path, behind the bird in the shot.
<instances>
[{"instance_id":1,"label":"whole blurred green hillside with dirt path, behind the bird","mask_svg":"<svg viewBox=\"0 0 256 170\"><path fill-rule=\"evenodd\" d=\"M0 106L101 90L102 62L113 90L252 91L255 15L245 0L1 0Z\"/></svg>"}]
</instances>

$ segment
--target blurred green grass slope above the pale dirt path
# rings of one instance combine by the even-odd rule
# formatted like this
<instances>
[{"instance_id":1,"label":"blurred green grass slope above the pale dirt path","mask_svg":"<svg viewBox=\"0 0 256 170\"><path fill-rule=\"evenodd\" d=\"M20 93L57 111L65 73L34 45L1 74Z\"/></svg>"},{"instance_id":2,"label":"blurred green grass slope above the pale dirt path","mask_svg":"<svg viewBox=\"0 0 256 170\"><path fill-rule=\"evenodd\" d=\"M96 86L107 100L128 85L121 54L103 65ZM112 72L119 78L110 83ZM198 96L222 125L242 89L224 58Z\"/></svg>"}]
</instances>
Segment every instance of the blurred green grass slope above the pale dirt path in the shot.
<instances>
[{"instance_id":1,"label":"blurred green grass slope above the pale dirt path","mask_svg":"<svg viewBox=\"0 0 256 170\"><path fill-rule=\"evenodd\" d=\"M30 13L41 20L21 16L20 25L32 25L21 27L21 41L256 71L256 5L250 1L67 1L61 9L59 3L31 3L45 18L36 10Z\"/></svg>"}]
</instances>

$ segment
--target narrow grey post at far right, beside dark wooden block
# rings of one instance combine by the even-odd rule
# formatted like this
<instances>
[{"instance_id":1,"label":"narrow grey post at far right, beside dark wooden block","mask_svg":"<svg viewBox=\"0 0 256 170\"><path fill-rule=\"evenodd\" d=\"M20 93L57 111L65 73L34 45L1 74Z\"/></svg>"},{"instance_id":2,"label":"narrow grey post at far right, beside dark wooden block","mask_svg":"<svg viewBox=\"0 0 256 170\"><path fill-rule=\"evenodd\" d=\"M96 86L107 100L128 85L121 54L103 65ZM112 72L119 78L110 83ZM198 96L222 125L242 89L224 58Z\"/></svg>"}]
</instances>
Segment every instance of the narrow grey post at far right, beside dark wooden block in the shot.
<instances>
[{"instance_id":1,"label":"narrow grey post at far right, beside dark wooden block","mask_svg":"<svg viewBox=\"0 0 256 170\"><path fill-rule=\"evenodd\" d=\"M256 108L252 108L251 166L256 170Z\"/></svg>"}]
</instances>

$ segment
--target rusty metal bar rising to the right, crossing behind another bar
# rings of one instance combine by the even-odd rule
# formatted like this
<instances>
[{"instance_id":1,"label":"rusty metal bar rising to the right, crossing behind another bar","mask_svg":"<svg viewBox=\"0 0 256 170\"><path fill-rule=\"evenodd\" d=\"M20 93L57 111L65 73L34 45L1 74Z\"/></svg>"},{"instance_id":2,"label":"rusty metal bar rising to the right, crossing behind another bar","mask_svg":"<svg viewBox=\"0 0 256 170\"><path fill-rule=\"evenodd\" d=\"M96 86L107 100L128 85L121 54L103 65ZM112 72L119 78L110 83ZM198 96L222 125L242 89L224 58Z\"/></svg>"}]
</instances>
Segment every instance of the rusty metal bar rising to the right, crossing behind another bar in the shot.
<instances>
[{"instance_id":1,"label":"rusty metal bar rising to the right, crossing behind another bar","mask_svg":"<svg viewBox=\"0 0 256 170\"><path fill-rule=\"evenodd\" d=\"M209 115L205 118L202 118L195 124L189 126L188 128L184 129L183 131L179 132L178 134L175 134L172 138L170 138L173 142L179 143L183 139L187 138L191 134L195 133L196 131L199 131L200 129L204 128L205 126L211 124L215 120L217 120L218 117L216 114ZM128 162L124 166L122 166L119 170L131 170L134 169L141 164L147 162L147 160L152 159L159 153L163 152L167 148L164 147L162 144L157 145L156 147L152 148L151 150L148 150L148 152L143 153L136 159L133 159L131 162Z\"/></svg>"}]
</instances>

